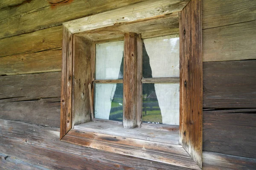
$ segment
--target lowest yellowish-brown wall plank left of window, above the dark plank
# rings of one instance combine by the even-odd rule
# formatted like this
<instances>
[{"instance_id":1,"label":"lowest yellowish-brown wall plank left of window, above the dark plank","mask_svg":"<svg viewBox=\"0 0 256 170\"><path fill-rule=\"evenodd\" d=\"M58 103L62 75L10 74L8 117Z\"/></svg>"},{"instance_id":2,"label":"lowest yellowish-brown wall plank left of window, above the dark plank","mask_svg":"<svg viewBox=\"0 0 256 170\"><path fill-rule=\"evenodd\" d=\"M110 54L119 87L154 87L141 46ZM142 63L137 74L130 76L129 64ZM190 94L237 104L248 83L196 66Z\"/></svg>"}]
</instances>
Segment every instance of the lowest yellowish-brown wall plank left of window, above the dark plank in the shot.
<instances>
[{"instance_id":1,"label":"lowest yellowish-brown wall plank left of window, above the dark plank","mask_svg":"<svg viewBox=\"0 0 256 170\"><path fill-rule=\"evenodd\" d=\"M61 71L61 49L0 57L0 75Z\"/></svg>"}]
</instances>

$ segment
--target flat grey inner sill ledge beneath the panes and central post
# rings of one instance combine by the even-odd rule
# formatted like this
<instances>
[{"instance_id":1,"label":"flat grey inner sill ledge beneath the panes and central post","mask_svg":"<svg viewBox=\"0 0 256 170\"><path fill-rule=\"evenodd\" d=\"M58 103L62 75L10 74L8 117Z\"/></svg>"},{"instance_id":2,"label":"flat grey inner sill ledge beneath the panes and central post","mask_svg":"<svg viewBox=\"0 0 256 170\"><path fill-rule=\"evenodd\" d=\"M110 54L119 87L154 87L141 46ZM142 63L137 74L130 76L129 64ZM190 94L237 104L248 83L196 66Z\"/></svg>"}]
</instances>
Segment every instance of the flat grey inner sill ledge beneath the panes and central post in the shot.
<instances>
[{"instance_id":1,"label":"flat grey inner sill ledge beneath the panes and central post","mask_svg":"<svg viewBox=\"0 0 256 170\"><path fill-rule=\"evenodd\" d=\"M80 125L76 125L74 129L83 130L86 132L142 139L147 141L179 144L179 132L175 130L163 131L162 129L153 128L124 129L122 124L120 125L108 122L87 122Z\"/></svg>"}]
</instances>

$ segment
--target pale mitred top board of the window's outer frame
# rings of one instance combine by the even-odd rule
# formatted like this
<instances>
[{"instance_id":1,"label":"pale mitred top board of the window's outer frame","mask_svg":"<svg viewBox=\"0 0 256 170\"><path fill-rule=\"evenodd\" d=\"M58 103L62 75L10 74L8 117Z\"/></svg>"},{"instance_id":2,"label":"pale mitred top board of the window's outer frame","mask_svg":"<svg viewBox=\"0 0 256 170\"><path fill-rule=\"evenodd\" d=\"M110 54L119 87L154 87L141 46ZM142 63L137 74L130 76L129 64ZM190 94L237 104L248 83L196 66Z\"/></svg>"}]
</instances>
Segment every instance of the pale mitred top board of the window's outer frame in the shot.
<instances>
[{"instance_id":1,"label":"pale mitred top board of the window's outer frame","mask_svg":"<svg viewBox=\"0 0 256 170\"><path fill-rule=\"evenodd\" d=\"M118 23L127 23L181 11L189 0L148 0L99 14L63 23L72 33L78 33Z\"/></svg>"}]
</instances>

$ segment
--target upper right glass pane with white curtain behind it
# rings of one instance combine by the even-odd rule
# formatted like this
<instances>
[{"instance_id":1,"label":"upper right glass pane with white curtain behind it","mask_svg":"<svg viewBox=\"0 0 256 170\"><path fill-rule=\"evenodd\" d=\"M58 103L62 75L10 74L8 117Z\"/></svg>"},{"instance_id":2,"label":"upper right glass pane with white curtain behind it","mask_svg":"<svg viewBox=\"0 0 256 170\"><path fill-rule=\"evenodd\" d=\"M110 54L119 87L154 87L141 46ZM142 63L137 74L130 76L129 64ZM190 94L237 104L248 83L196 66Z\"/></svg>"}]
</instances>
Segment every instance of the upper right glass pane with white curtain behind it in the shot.
<instances>
[{"instance_id":1,"label":"upper right glass pane with white curtain behind it","mask_svg":"<svg viewBox=\"0 0 256 170\"><path fill-rule=\"evenodd\" d=\"M143 77L179 77L179 38L173 35L143 40Z\"/></svg>"}]
</instances>

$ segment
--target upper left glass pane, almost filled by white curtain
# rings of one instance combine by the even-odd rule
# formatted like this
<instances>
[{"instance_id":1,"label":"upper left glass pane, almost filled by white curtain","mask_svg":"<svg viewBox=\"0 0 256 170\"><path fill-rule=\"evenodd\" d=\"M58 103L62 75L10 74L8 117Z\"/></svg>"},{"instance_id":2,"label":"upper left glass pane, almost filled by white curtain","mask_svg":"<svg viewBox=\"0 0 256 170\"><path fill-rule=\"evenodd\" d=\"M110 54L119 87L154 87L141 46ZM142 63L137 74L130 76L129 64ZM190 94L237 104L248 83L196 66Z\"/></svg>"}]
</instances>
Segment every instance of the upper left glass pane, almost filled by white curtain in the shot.
<instances>
[{"instance_id":1,"label":"upper left glass pane, almost filled by white curtain","mask_svg":"<svg viewBox=\"0 0 256 170\"><path fill-rule=\"evenodd\" d=\"M96 44L96 79L123 78L124 42Z\"/></svg>"}]
</instances>

